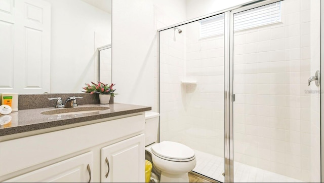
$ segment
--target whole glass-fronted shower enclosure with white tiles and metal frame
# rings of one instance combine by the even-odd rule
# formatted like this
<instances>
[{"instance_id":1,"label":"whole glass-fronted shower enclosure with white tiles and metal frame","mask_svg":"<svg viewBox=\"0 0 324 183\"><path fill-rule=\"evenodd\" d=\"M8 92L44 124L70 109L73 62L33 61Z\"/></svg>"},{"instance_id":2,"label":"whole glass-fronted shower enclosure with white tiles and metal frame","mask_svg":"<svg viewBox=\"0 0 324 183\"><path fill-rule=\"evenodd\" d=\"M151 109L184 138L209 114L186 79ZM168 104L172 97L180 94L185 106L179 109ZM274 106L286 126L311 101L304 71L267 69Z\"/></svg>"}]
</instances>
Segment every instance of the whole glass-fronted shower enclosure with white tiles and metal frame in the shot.
<instances>
[{"instance_id":1,"label":"whole glass-fronted shower enclosure with white tiles and metal frame","mask_svg":"<svg viewBox=\"0 0 324 183\"><path fill-rule=\"evenodd\" d=\"M159 29L160 140L221 182L319 182L320 1L257 1ZM317 82L317 85L316 85Z\"/></svg>"}]
</instances>

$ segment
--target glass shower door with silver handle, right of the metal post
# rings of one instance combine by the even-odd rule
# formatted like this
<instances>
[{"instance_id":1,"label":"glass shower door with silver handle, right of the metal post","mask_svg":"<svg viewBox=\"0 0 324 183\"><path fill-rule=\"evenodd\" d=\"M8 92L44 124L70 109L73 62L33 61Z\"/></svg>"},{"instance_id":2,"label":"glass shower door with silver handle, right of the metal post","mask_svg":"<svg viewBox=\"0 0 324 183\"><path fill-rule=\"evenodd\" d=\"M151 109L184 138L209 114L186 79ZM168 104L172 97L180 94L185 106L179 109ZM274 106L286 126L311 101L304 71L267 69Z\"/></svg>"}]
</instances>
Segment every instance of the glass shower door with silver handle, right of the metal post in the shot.
<instances>
[{"instance_id":1,"label":"glass shower door with silver handle, right of the metal post","mask_svg":"<svg viewBox=\"0 0 324 183\"><path fill-rule=\"evenodd\" d=\"M320 181L319 1L231 13L233 180Z\"/></svg>"}]
</instances>

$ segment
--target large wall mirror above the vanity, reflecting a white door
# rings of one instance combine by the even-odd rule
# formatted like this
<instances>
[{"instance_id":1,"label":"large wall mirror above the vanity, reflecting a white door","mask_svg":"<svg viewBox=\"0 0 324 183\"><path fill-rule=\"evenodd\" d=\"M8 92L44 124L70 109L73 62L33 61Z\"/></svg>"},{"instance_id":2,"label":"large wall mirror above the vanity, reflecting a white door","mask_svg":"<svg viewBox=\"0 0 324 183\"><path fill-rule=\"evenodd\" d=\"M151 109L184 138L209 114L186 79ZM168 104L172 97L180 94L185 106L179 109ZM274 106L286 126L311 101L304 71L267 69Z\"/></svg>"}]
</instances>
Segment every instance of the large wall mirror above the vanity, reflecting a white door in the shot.
<instances>
[{"instance_id":1,"label":"large wall mirror above the vanity, reflecting a white door","mask_svg":"<svg viewBox=\"0 0 324 183\"><path fill-rule=\"evenodd\" d=\"M81 93L104 73L98 48L111 44L111 0L0 0L0 33L8 35L0 65L9 68L0 93Z\"/></svg>"}]
</instances>

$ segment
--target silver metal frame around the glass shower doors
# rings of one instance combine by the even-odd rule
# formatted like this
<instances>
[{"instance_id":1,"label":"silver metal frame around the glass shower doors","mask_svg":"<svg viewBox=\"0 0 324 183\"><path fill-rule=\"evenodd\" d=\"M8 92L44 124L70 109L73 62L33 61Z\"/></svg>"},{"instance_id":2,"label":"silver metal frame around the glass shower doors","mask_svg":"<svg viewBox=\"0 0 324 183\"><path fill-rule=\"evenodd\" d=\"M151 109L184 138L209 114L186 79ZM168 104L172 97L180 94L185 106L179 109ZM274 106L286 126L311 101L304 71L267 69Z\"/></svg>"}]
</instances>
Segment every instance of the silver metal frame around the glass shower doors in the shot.
<instances>
[{"instance_id":1,"label":"silver metal frame around the glass shower doors","mask_svg":"<svg viewBox=\"0 0 324 183\"><path fill-rule=\"evenodd\" d=\"M185 25L191 22L195 22L201 19L205 19L211 16L224 13L224 163L225 163L225 181L234 182L234 169L233 169L233 15L235 13L257 8L260 6L268 5L285 0L255 0L246 4L241 4L232 8L228 8L222 11L214 12L205 16L197 17L191 20L173 24L167 27L157 29L157 50L158 50L158 113L160 113L160 31L175 28L177 26ZM321 2L321 1L320 1ZM324 70L324 64L321 60L324 60L324 3L320 3L320 70ZM324 84L324 81L320 81L320 85ZM321 91L322 92L322 91ZM324 97L321 97L320 92L320 116L324 115L324 109L321 105L324 105ZM321 125L320 117L320 130L324 131L324 125ZM158 124L158 142L160 141L160 120ZM324 141L324 134L320 133L321 143ZM324 182L324 145L320 144L320 179Z\"/></svg>"}]
</instances>

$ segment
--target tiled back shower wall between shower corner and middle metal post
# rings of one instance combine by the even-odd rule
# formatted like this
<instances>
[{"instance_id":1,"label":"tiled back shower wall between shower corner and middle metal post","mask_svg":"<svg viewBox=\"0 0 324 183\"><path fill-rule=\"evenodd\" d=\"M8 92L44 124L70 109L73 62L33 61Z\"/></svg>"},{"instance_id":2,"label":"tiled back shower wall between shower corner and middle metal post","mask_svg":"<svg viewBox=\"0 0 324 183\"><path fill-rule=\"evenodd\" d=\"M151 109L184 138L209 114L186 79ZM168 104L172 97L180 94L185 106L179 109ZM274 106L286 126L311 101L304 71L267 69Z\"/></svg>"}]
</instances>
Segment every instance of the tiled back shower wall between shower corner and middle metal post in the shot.
<instances>
[{"instance_id":1,"label":"tiled back shower wall between shower corner and middle metal post","mask_svg":"<svg viewBox=\"0 0 324 183\"><path fill-rule=\"evenodd\" d=\"M199 22L186 25L185 140L189 147L224 157L224 36L199 38Z\"/></svg>"}]
</instances>

